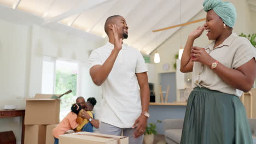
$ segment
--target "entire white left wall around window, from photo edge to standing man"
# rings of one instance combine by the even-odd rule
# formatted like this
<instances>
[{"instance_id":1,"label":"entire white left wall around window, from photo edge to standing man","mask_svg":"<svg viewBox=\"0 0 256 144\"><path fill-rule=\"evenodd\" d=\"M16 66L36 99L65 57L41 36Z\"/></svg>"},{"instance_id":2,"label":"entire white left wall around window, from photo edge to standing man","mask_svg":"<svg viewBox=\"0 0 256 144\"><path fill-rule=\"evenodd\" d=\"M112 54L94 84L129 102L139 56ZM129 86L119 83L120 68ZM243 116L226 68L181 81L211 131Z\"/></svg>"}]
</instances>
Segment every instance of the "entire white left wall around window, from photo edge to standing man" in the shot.
<instances>
[{"instance_id":1,"label":"entire white left wall around window, from photo edge to standing man","mask_svg":"<svg viewBox=\"0 0 256 144\"><path fill-rule=\"evenodd\" d=\"M60 57L85 65L80 76L80 95L100 101L100 87L94 86L89 75L88 50L104 41L92 41L39 26L21 26L0 20L0 109L5 104L25 109L28 97L41 92L43 56ZM86 69L87 68L87 69ZM88 85L85 85L88 84ZM100 103L98 103L100 104ZM0 131L13 130L21 141L21 118L0 118Z\"/></svg>"}]
</instances>

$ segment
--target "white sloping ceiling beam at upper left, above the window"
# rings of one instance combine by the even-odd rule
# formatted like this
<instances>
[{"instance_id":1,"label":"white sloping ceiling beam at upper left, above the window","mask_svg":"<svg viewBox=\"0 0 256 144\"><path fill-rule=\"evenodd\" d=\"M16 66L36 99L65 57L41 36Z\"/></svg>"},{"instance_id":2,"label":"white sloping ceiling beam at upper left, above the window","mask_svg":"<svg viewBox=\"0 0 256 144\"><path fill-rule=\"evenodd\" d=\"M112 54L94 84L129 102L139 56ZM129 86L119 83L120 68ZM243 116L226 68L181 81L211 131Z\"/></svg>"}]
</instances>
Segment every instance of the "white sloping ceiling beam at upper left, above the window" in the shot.
<instances>
[{"instance_id":1,"label":"white sloping ceiling beam at upper left, above the window","mask_svg":"<svg viewBox=\"0 0 256 144\"><path fill-rule=\"evenodd\" d=\"M83 13L83 11L90 9L92 7L96 7L97 5L103 4L108 2L109 0L98 0L98 1L89 1L88 3L80 4L77 8L73 8L71 10L66 11L65 13L62 13L60 15L51 17L49 19L46 19L42 26L49 25L50 23L60 21L62 19L66 19L67 17L70 17L75 14Z\"/></svg>"}]
</instances>

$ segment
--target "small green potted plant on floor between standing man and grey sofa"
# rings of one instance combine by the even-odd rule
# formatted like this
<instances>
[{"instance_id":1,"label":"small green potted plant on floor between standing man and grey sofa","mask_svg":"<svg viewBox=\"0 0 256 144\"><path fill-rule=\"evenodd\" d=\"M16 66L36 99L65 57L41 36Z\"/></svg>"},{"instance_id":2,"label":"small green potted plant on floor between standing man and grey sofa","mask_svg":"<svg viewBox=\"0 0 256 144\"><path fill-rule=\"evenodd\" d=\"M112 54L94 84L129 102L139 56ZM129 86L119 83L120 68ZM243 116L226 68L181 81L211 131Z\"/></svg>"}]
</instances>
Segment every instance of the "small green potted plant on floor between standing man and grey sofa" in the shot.
<instances>
[{"instance_id":1,"label":"small green potted plant on floor between standing man and grey sofa","mask_svg":"<svg viewBox=\"0 0 256 144\"><path fill-rule=\"evenodd\" d=\"M162 121L157 121L156 123L161 123ZM154 135L157 135L156 123L149 123L144 132L144 142L145 144L153 144Z\"/></svg>"}]
</instances>

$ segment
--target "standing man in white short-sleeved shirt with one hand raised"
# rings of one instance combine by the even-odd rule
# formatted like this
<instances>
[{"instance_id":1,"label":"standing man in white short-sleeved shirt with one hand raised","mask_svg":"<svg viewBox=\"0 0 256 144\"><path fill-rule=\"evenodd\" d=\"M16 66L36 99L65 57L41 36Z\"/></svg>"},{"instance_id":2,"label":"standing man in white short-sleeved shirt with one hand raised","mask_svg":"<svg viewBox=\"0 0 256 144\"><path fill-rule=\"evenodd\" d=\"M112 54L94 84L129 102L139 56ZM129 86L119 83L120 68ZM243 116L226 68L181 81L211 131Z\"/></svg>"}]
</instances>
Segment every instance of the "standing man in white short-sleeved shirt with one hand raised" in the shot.
<instances>
[{"instance_id":1,"label":"standing man in white short-sleeved shirt with one hand raised","mask_svg":"<svg viewBox=\"0 0 256 144\"><path fill-rule=\"evenodd\" d=\"M124 17L108 17L104 29L108 43L89 58L92 80L102 88L100 132L121 135L123 130L129 143L142 143L149 117L148 70L141 53L123 44L128 37Z\"/></svg>"}]
</instances>

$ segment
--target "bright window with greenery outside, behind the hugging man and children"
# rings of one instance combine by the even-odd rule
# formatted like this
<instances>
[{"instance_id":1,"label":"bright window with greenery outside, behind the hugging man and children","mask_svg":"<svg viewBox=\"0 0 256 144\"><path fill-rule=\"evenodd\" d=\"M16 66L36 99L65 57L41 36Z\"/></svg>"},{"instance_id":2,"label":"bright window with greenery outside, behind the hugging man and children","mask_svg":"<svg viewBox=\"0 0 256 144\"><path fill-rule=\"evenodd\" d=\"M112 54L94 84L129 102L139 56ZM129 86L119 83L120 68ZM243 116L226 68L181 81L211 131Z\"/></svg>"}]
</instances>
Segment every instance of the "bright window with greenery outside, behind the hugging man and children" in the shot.
<instances>
[{"instance_id":1,"label":"bright window with greenery outside, behind the hugging man and children","mask_svg":"<svg viewBox=\"0 0 256 144\"><path fill-rule=\"evenodd\" d=\"M77 96L78 63L63 59L44 57L42 73L42 93L62 94L69 89L72 93L61 98L60 120L62 120Z\"/></svg>"}]
</instances>

